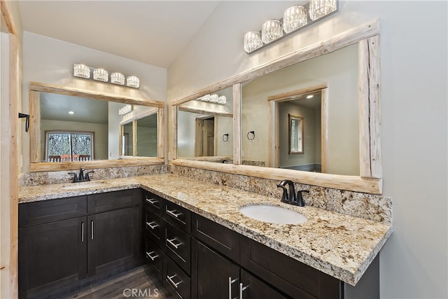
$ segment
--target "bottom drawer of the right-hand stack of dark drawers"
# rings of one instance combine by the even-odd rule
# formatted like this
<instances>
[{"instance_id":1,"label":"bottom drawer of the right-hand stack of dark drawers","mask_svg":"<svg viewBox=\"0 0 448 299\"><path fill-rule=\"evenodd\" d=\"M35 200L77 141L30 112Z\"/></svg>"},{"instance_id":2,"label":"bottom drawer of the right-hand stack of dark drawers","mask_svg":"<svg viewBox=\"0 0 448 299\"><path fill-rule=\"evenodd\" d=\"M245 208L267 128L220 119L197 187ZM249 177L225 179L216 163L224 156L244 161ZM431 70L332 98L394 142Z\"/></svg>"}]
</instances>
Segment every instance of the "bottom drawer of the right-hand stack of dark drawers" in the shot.
<instances>
[{"instance_id":1,"label":"bottom drawer of the right-hand stack of dark drawers","mask_svg":"<svg viewBox=\"0 0 448 299\"><path fill-rule=\"evenodd\" d=\"M190 277L165 255L162 281L175 298L190 299Z\"/></svg>"}]
</instances>

